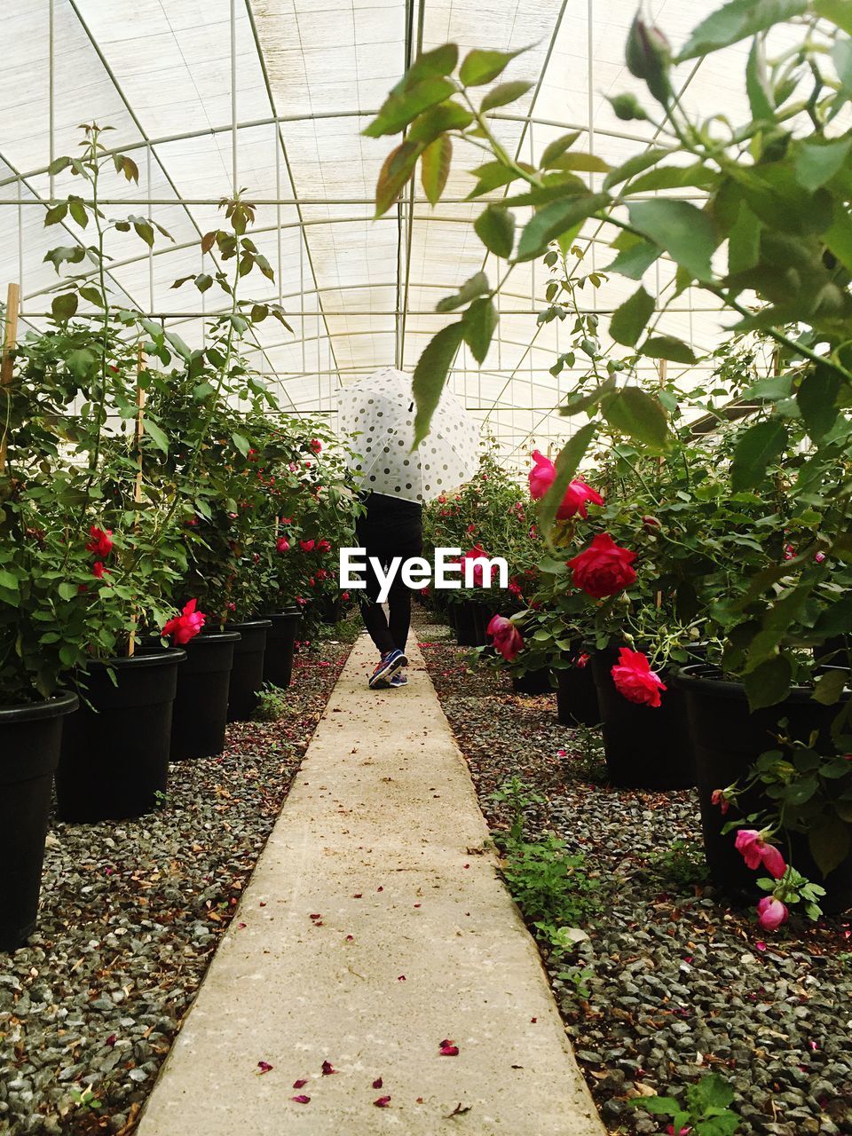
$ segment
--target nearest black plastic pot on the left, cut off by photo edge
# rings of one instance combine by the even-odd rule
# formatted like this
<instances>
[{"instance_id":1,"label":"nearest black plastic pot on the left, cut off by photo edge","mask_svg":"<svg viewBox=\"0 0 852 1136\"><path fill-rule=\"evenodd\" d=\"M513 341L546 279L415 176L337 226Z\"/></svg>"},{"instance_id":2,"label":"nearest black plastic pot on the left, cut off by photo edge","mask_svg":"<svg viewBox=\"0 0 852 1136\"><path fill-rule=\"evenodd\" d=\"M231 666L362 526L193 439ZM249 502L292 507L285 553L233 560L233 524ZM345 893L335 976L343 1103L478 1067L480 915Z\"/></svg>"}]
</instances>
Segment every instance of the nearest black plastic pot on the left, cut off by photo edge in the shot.
<instances>
[{"instance_id":1,"label":"nearest black plastic pot on the left, cut off by photo edge","mask_svg":"<svg viewBox=\"0 0 852 1136\"><path fill-rule=\"evenodd\" d=\"M50 790L77 695L0 707L0 951L23 946L39 913Z\"/></svg>"}]
</instances>

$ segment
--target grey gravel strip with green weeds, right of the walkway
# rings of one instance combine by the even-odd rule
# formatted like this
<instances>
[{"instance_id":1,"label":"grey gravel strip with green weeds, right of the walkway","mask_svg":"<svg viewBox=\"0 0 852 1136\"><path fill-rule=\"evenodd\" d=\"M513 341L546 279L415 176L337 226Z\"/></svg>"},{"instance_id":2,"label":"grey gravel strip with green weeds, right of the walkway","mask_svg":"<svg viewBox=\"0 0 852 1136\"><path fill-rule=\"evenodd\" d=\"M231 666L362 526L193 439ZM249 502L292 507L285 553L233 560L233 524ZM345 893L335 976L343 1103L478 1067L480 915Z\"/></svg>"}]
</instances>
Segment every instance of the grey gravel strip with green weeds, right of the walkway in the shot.
<instances>
[{"instance_id":1,"label":"grey gravel strip with green weeds, right of the walkway","mask_svg":"<svg viewBox=\"0 0 852 1136\"><path fill-rule=\"evenodd\" d=\"M600 879L602 912L574 960L591 971L587 997L549 970L610 1133L665 1133L668 1118L630 1099L679 1096L709 1071L730 1081L743 1134L852 1133L849 918L761 932L696 882L693 792L609 788L593 732L560 726L554 695L513 695L446 627L424 615L417 627L492 828L507 817L488 794L517 774L546 799L528 838L556 833Z\"/></svg>"}]
</instances>

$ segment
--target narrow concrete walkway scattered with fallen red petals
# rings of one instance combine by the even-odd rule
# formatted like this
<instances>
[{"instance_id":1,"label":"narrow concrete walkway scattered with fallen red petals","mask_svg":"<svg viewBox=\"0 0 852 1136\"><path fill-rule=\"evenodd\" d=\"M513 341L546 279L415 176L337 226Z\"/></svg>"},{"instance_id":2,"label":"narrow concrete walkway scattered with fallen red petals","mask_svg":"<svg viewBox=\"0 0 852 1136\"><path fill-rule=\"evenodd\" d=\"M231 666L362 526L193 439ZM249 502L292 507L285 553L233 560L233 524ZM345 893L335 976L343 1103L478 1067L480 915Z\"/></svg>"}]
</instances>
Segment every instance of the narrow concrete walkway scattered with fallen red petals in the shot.
<instances>
[{"instance_id":1,"label":"narrow concrete walkway scattered with fallen red petals","mask_svg":"<svg viewBox=\"0 0 852 1136\"><path fill-rule=\"evenodd\" d=\"M356 645L139 1136L604 1134L411 657Z\"/></svg>"}]
</instances>

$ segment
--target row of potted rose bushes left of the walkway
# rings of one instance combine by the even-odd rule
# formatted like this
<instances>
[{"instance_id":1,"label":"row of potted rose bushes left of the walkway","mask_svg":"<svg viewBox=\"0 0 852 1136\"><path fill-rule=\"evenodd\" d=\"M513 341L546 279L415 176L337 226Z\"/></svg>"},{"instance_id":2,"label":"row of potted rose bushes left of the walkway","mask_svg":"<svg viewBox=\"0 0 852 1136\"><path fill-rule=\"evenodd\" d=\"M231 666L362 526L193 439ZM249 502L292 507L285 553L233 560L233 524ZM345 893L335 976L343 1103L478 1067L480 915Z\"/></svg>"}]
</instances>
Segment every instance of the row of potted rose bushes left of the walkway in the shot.
<instances>
[{"instance_id":1,"label":"row of potted rose bushes left of the walkway","mask_svg":"<svg viewBox=\"0 0 852 1136\"><path fill-rule=\"evenodd\" d=\"M53 164L81 191L47 225L77 235L57 269L53 319L3 359L0 385L0 947L32 930L56 774L61 819L139 816L169 758L220 752L262 683L290 682L298 628L339 602L336 549L359 504L342 448L282 411L241 343L274 304L245 300L272 269L253 208L223 203L202 239L218 290L203 345L125 307L111 242L169 240L112 219L109 181L135 179L97 125ZM7 312L12 319L14 314Z\"/></svg>"}]
</instances>

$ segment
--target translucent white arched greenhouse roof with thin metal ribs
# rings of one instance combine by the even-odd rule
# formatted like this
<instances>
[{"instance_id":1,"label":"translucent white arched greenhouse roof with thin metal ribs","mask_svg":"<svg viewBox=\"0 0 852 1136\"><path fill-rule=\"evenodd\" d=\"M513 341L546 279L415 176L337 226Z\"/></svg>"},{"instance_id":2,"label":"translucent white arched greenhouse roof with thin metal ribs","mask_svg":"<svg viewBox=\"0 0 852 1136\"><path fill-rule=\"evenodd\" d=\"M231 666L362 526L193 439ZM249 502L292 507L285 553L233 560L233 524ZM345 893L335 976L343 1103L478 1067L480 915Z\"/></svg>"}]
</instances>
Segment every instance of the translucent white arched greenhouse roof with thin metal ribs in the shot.
<instances>
[{"instance_id":1,"label":"translucent white arched greenhouse roof with thin metal ribs","mask_svg":"<svg viewBox=\"0 0 852 1136\"><path fill-rule=\"evenodd\" d=\"M652 0L646 8L677 44L718 6ZM174 237L152 254L140 253L135 240L114 248L115 285L187 342L200 341L202 300L194 289L173 291L172 284L202 270L208 258L200 234L216 224L219 199L245 186L259 202L254 239L276 272L266 295L282 301L295 333L265 323L251 344L253 360L276 378L284 404L334 414L340 384L383 366L414 369L448 318L434 311L442 295L483 266L492 278L506 270L493 257L484 261L469 225L483 208L482 200L463 200L473 187L465 170L482 158L473 148L457 147L438 207L428 206L418 185L412 202L406 195L371 219L376 177L392 143L360 132L407 60L448 40L462 50L532 44L503 76L536 81L521 102L498 115L503 145L529 159L574 128L585 135L578 145L617 164L653 135L646 123L620 123L604 98L642 93L624 66L635 8L636 0L491 0L485 7L482 0L6 0L0 284L19 281L25 320L42 320L45 292L56 283L42 259L62 234L43 228L41 202L78 190L67 175L51 179L47 167L74 152L81 123L108 124L115 128L108 144L132 152L141 170L139 186L116 177L107 187L112 215L148 212ZM747 44L738 45L683 68L685 105L747 119L746 52ZM586 225L584 270L611 259L611 236L605 225ZM645 285L665 296L673 275L663 259ZM512 270L487 359L479 367L462 349L451 379L510 461L566 434L566 419L551 411L570 373L554 378L549 368L570 328L558 320L536 327L546 279L541 262ZM264 287L253 283L252 296L264 298ZM584 290L583 301L605 314L633 289L613 277L596 292ZM661 326L698 352L720 335L718 312L698 292L678 298ZM678 369L669 365L670 374Z\"/></svg>"}]
</instances>

